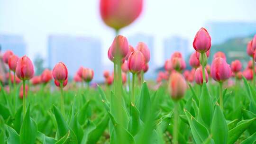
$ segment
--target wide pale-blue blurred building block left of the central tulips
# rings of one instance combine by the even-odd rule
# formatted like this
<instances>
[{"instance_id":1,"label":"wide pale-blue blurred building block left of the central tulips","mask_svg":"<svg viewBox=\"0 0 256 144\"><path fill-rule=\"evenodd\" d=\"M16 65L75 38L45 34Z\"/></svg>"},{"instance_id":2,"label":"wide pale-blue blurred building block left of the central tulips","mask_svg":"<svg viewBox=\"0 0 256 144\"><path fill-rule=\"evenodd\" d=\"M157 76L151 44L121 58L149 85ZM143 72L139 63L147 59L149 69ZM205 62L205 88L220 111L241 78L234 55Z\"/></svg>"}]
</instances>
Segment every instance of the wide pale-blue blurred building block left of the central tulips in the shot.
<instances>
[{"instance_id":1,"label":"wide pale-blue blurred building block left of the central tulips","mask_svg":"<svg viewBox=\"0 0 256 144\"><path fill-rule=\"evenodd\" d=\"M74 76L80 66L94 71L93 81L103 81L101 41L91 37L58 36L48 38L48 66L53 69L55 64L63 62L70 76Z\"/></svg>"}]
</instances>

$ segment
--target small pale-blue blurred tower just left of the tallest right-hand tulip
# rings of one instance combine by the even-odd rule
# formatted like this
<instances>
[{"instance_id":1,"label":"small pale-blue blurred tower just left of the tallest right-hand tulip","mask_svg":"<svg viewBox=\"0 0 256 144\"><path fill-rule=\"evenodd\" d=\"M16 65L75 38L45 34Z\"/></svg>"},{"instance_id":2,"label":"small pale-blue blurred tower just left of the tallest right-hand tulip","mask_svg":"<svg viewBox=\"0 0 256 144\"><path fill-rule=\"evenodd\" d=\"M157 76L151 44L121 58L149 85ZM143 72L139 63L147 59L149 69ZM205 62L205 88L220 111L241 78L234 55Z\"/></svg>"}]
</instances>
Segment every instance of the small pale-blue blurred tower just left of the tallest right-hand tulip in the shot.
<instances>
[{"instance_id":1,"label":"small pale-blue blurred tower just left of the tallest right-hand tulip","mask_svg":"<svg viewBox=\"0 0 256 144\"><path fill-rule=\"evenodd\" d=\"M186 59L189 54L189 40L180 36L172 36L164 40L165 60L169 59L174 52L180 52Z\"/></svg>"}]
</instances>

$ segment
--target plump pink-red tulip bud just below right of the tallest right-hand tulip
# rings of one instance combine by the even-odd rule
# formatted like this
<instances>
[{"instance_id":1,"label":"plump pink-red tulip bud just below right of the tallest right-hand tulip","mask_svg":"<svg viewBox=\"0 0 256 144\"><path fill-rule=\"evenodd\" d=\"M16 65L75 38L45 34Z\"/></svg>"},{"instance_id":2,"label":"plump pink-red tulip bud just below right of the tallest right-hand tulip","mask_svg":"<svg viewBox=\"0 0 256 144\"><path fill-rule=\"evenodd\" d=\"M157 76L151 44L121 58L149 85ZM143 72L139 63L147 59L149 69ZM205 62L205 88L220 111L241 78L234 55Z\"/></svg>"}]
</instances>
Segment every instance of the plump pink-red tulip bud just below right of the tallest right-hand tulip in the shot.
<instances>
[{"instance_id":1,"label":"plump pink-red tulip bud just below right of the tallest right-hand tulip","mask_svg":"<svg viewBox=\"0 0 256 144\"><path fill-rule=\"evenodd\" d=\"M223 82L230 78L231 69L225 59L217 57L211 64L210 74L215 81Z\"/></svg>"}]
</instances>

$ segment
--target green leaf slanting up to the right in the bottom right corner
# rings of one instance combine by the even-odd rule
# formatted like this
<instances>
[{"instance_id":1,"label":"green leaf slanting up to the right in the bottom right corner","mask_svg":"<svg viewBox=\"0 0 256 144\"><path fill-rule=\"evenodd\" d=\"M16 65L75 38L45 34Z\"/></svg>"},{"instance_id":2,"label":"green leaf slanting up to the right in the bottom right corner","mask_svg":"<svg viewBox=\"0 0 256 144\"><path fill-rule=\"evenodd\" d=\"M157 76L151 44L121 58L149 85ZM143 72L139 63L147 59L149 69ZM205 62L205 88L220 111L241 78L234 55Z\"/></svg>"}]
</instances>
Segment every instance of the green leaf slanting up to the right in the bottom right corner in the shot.
<instances>
[{"instance_id":1,"label":"green leaf slanting up to the right in the bottom right corner","mask_svg":"<svg viewBox=\"0 0 256 144\"><path fill-rule=\"evenodd\" d=\"M238 123L238 125L229 130L229 139L228 144L234 144L240 135L256 120L256 118L249 119L249 120L242 120Z\"/></svg>"}]
</instances>

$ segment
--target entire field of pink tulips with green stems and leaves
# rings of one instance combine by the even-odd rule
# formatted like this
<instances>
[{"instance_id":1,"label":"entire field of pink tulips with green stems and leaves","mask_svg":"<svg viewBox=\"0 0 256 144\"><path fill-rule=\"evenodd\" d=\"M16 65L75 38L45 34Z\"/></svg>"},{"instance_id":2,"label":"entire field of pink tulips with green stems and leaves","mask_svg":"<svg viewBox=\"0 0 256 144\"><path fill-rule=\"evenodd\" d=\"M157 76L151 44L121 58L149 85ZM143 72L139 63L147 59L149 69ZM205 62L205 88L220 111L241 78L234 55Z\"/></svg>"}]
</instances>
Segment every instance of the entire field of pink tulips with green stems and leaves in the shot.
<instances>
[{"instance_id":1,"label":"entire field of pink tulips with green stems and leaves","mask_svg":"<svg viewBox=\"0 0 256 144\"><path fill-rule=\"evenodd\" d=\"M247 65L227 63L223 52L210 62L202 27L191 44L192 69L175 52L147 80L152 52L119 31L140 15L143 0L100 1L101 18L116 31L105 81L93 84L85 66L71 76L63 62L35 75L28 56L0 54L8 70L0 73L0 144L256 144L256 35ZM124 5L134 9L119 11Z\"/></svg>"}]
</instances>

